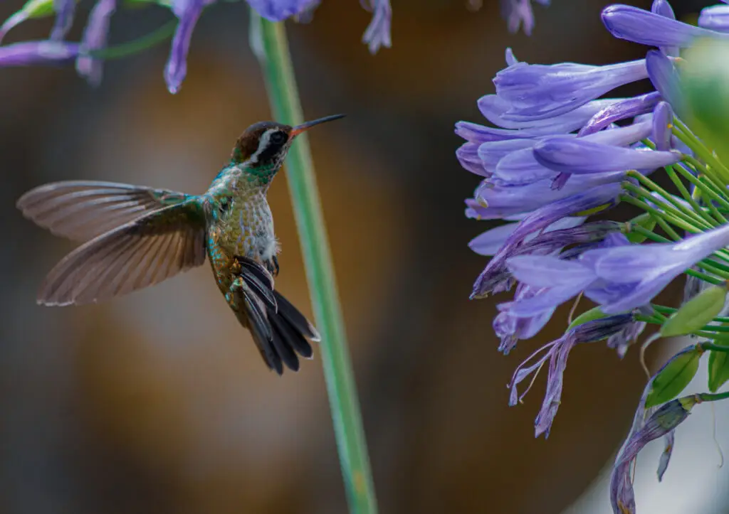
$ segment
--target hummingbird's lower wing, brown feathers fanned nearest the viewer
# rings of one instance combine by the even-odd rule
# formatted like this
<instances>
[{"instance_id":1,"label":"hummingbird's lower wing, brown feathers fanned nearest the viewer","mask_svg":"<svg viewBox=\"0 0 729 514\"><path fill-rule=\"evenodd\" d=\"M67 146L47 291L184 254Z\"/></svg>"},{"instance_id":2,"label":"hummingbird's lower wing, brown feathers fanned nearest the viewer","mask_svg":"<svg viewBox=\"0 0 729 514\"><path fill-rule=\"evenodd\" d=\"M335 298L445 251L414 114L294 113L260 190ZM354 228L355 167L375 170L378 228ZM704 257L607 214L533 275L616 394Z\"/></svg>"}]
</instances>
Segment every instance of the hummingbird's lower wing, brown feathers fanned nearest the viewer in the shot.
<instances>
[{"instance_id":1,"label":"hummingbird's lower wing, brown feathers fanned nearest the viewer","mask_svg":"<svg viewBox=\"0 0 729 514\"><path fill-rule=\"evenodd\" d=\"M162 282L205 262L205 215L193 198L79 246L46 277L44 305L88 304Z\"/></svg>"}]
</instances>

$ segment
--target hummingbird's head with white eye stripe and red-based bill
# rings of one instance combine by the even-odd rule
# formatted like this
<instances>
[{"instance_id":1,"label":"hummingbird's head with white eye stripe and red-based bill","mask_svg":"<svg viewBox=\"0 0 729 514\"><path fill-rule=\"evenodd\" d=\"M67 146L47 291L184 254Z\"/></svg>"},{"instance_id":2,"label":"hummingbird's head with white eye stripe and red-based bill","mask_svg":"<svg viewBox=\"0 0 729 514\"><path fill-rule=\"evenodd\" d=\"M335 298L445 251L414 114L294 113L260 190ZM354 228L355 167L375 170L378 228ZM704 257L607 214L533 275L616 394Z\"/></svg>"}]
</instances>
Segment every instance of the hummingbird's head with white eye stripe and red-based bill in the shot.
<instances>
[{"instance_id":1,"label":"hummingbird's head with white eye stripe and red-based bill","mask_svg":"<svg viewBox=\"0 0 729 514\"><path fill-rule=\"evenodd\" d=\"M238 138L230 158L238 165L246 164L249 168L276 173L284 163L291 143L297 135L320 123L332 122L343 117L344 114L335 114L296 127L276 122L254 123Z\"/></svg>"}]
</instances>

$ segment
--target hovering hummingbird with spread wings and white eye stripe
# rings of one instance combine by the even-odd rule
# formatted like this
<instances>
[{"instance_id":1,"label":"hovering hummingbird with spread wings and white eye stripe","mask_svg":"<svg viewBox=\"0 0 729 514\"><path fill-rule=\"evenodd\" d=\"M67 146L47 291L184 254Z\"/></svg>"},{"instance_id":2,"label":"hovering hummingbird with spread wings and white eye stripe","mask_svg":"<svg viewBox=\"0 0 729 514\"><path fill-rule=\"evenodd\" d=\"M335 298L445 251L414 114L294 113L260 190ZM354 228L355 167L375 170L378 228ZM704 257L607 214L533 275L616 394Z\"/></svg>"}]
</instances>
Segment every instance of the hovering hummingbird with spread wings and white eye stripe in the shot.
<instances>
[{"instance_id":1,"label":"hovering hummingbird with spread wings and white eye stripe","mask_svg":"<svg viewBox=\"0 0 729 514\"><path fill-rule=\"evenodd\" d=\"M63 181L17 201L23 216L83 242L47 275L42 305L122 296L210 261L215 282L263 360L279 375L311 358L316 328L278 290L278 240L266 195L297 135L336 114L291 127L248 127L203 194L101 181ZM307 340L308 339L308 340Z\"/></svg>"}]
</instances>

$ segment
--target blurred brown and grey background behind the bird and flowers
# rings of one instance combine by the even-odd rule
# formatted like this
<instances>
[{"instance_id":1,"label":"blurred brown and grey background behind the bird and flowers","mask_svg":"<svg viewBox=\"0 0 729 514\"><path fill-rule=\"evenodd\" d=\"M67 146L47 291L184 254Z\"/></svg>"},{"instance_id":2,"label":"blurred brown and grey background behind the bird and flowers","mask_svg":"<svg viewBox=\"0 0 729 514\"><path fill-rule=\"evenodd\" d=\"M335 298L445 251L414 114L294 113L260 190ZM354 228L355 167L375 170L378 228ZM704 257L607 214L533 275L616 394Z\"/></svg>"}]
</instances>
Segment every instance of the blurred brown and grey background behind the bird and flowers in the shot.
<instances>
[{"instance_id":1,"label":"blurred brown and grey background behind the bird and flowers","mask_svg":"<svg viewBox=\"0 0 729 514\"><path fill-rule=\"evenodd\" d=\"M561 333L566 312L512 355L496 352L491 319L507 296L468 300L486 259L467 242L492 225L463 216L477 178L454 156L453 123L481 121L476 100L493 92L507 46L534 63L645 49L609 36L604 0L535 6L531 38L507 33L496 0L393 4L394 47L375 57L359 42L370 18L356 0L324 0L312 23L289 23L305 113L348 114L311 144L381 512L609 512L605 466L644 384L636 352L621 362L602 344L574 351L547 441L532 426L543 377L507 407L513 369ZM689 18L706 4L673 2ZM0 15L19 7L3 2ZM170 17L121 10L112 41ZM270 373L207 266L104 305L37 307L44 274L74 245L14 207L27 189L71 178L203 191L239 133L270 117L247 27L243 3L206 10L178 95L162 78L166 44L108 63L97 89L71 66L0 71L0 512L346 512L318 357ZM7 41L49 28L28 23ZM311 315L283 174L270 202L284 248L277 287ZM717 406L729 446L722 420ZM709 408L677 444L661 486L660 448L640 459L642 512L729 512Z\"/></svg>"}]
</instances>

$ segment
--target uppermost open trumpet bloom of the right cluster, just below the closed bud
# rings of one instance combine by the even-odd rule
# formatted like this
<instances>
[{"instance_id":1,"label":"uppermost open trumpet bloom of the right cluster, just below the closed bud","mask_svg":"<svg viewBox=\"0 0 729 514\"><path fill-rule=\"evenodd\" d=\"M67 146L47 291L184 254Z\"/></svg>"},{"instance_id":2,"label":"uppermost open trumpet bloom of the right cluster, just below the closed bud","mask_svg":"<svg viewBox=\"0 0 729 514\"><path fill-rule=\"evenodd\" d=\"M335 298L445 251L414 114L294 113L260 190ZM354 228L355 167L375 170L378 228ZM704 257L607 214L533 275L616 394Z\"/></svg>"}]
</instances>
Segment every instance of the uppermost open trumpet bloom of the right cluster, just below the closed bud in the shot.
<instances>
[{"instance_id":1,"label":"uppermost open trumpet bloom of the right cluster, just below the closed bud","mask_svg":"<svg viewBox=\"0 0 729 514\"><path fill-rule=\"evenodd\" d=\"M645 60L607 66L517 63L494 77L496 95L510 103L505 119L547 119L572 111L624 84L647 78Z\"/></svg>"}]
</instances>

